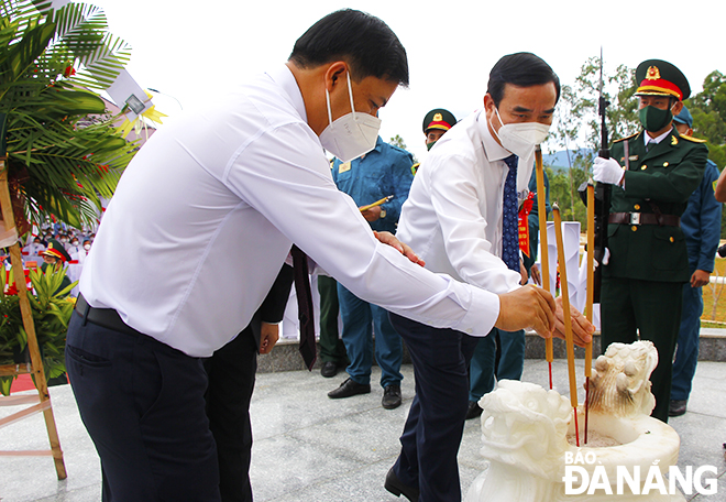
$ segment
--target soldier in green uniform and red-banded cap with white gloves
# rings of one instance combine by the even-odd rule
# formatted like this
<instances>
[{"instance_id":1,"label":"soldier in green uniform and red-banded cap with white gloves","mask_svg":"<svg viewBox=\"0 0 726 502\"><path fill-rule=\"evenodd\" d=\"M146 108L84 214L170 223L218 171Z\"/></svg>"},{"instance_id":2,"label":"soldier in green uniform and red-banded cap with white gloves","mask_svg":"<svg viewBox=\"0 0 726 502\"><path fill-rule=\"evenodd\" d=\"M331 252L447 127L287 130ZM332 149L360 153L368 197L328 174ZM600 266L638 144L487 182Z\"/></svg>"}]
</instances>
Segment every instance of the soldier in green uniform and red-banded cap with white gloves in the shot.
<instances>
[{"instance_id":1,"label":"soldier in green uniform and red-banded cap with white gloves","mask_svg":"<svg viewBox=\"0 0 726 502\"><path fill-rule=\"evenodd\" d=\"M593 166L595 181L613 185L603 258L602 342L603 350L615 341L630 343L638 332L653 342L659 362L650 376L652 416L668 422L682 288L691 276L680 217L701 183L708 150L673 127L673 116L691 92L675 66L645 61L636 81L644 129L616 141L612 159L598 157Z\"/></svg>"}]
</instances>

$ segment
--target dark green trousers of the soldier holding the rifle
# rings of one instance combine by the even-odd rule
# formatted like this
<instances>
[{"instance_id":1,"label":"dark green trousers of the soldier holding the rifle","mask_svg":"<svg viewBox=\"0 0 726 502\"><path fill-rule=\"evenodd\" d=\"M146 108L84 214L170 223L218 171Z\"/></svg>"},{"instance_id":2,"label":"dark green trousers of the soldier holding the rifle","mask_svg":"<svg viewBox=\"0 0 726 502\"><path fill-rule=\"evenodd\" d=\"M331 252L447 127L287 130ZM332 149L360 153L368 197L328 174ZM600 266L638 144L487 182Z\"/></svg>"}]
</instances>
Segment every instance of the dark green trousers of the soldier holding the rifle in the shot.
<instances>
[{"instance_id":1,"label":"dark green trousers of the soldier holding the rifle","mask_svg":"<svg viewBox=\"0 0 726 502\"><path fill-rule=\"evenodd\" d=\"M683 283L603 277L601 290L603 352L613 342L650 340L658 365L650 375L656 407L651 416L668 422L673 351L681 326Z\"/></svg>"}]
</instances>

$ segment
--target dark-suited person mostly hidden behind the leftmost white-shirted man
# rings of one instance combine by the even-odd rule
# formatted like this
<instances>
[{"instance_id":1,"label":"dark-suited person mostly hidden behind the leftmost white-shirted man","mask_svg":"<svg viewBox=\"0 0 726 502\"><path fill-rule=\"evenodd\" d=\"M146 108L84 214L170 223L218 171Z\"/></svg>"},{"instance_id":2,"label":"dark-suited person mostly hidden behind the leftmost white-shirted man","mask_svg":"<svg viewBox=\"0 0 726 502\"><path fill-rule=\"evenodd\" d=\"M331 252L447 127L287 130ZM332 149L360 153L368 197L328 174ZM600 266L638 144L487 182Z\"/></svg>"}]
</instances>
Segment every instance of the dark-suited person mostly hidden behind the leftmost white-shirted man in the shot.
<instances>
[{"instance_id":1,"label":"dark-suited person mostly hidden behind the leftmost white-shirted man","mask_svg":"<svg viewBox=\"0 0 726 502\"><path fill-rule=\"evenodd\" d=\"M250 325L205 360L207 417L217 443L222 502L252 502L250 401L257 353L268 353L277 341L277 324L283 320L293 279L293 268L283 265Z\"/></svg>"}]
</instances>

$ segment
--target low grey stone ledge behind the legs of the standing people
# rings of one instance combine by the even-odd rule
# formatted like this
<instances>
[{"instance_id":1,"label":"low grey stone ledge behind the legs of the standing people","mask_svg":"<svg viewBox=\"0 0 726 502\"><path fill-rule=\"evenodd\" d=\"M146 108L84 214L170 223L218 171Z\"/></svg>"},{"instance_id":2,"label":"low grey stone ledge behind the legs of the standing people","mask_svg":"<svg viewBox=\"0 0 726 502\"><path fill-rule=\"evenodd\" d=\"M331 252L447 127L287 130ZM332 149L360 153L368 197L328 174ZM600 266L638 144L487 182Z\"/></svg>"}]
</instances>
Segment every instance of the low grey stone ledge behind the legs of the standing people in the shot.
<instances>
[{"instance_id":1,"label":"low grey stone ledge behind the legs of the standing people","mask_svg":"<svg viewBox=\"0 0 726 502\"><path fill-rule=\"evenodd\" d=\"M597 358L600 354L600 334L595 334L593 339L593 359ZM726 362L726 329L702 328L698 347L698 361ZM556 359L565 359L568 357L564 340L554 339L552 342L552 349ZM319 347L318 353L320 353ZM544 359L544 339L535 332L528 332L525 346L525 358ZM575 358L584 359L585 349L575 347ZM410 363L410 358L405 345L404 363ZM319 368L320 360L316 361L314 371ZM257 358L257 371L261 373L297 371L304 369L305 364L302 363L302 357L298 351L298 341L293 339L282 339L277 342L271 353Z\"/></svg>"}]
</instances>

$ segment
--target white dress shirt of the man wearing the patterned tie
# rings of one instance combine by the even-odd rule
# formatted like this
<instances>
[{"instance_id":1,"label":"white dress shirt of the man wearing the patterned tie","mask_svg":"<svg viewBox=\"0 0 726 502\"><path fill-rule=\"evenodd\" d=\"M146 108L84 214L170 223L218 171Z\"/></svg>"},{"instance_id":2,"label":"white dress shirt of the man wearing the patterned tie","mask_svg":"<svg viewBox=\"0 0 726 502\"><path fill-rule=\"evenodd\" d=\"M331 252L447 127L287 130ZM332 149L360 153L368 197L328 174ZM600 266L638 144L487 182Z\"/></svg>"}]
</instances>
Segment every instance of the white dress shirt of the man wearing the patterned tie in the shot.
<instances>
[{"instance_id":1,"label":"white dress shirt of the man wearing the patterned tie","mask_svg":"<svg viewBox=\"0 0 726 502\"><path fill-rule=\"evenodd\" d=\"M498 294L519 287L521 275L499 258L509 172L504 159L509 155L492 137L482 110L451 128L421 162L396 237L427 269ZM532 163L531 157L519 159L517 165L520 200L528 192ZM479 334L488 329L483 325Z\"/></svg>"}]
</instances>

